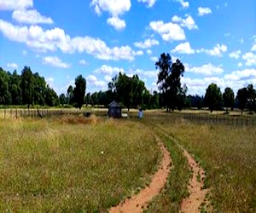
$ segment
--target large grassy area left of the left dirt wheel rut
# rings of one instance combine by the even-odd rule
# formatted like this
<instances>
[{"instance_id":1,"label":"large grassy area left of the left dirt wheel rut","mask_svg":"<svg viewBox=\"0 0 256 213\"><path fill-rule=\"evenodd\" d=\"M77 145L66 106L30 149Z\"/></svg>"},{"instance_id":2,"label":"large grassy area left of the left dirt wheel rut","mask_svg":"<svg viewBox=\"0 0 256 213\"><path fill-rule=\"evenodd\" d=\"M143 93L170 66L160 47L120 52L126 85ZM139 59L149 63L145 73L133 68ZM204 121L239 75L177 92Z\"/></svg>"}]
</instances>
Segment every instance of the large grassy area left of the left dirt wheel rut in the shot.
<instances>
[{"instance_id":1,"label":"large grassy area left of the left dirt wheel rut","mask_svg":"<svg viewBox=\"0 0 256 213\"><path fill-rule=\"evenodd\" d=\"M90 119L0 120L1 212L104 212L147 183L160 160L153 133Z\"/></svg>"}]
</instances>

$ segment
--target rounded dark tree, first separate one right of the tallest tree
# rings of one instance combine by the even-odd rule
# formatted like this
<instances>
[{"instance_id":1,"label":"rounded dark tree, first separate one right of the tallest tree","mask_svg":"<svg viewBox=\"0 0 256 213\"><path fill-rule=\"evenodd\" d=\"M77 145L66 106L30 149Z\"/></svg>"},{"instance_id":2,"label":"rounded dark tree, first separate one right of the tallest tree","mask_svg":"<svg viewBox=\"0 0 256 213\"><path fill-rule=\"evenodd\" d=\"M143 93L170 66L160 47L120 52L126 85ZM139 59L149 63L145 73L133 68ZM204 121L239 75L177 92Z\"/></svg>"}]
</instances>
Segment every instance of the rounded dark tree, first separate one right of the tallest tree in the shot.
<instances>
[{"instance_id":1,"label":"rounded dark tree, first separate one right of the tallest tree","mask_svg":"<svg viewBox=\"0 0 256 213\"><path fill-rule=\"evenodd\" d=\"M210 111L218 110L221 107L222 93L220 88L215 83L211 83L205 95L205 104L209 107Z\"/></svg>"}]
</instances>

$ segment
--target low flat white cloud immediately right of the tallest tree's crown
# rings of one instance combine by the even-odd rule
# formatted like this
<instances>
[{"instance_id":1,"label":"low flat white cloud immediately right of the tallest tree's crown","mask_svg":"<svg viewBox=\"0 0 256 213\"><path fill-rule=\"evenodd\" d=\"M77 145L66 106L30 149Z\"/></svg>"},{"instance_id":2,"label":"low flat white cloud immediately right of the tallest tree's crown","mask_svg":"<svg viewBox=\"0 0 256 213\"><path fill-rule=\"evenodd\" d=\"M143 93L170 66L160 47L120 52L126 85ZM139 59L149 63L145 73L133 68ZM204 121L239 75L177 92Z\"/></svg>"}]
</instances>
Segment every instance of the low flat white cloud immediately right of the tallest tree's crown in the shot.
<instances>
[{"instance_id":1,"label":"low flat white cloud immediately right of the tallest tree's crown","mask_svg":"<svg viewBox=\"0 0 256 213\"><path fill-rule=\"evenodd\" d=\"M187 72L194 72L196 74L206 75L206 76L212 76L216 74L221 74L224 72L223 68L219 66L214 66L212 63L208 63L202 66L194 66L190 68L189 66L186 67Z\"/></svg>"}]
</instances>

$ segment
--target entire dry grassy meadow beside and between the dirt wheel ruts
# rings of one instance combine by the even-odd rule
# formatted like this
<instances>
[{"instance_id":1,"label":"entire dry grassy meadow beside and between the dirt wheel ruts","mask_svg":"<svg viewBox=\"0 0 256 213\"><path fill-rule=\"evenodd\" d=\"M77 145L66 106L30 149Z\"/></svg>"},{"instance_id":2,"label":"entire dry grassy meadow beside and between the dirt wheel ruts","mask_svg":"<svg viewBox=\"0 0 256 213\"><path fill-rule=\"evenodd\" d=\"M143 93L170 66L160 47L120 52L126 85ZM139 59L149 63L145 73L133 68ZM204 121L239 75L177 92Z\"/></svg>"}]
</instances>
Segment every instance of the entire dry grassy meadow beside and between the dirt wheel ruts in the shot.
<instances>
[{"instance_id":1,"label":"entire dry grassy meadow beside and between the dirt wheel ruts","mask_svg":"<svg viewBox=\"0 0 256 213\"><path fill-rule=\"evenodd\" d=\"M155 135L173 166L146 212L178 212L189 196L191 171L172 137L206 170L210 193L201 212L256 211L254 125L227 125L223 112L214 113L214 123L160 111L138 121L136 113L120 120L82 114L4 120L0 114L0 211L107 212L148 185L161 159Z\"/></svg>"}]
</instances>

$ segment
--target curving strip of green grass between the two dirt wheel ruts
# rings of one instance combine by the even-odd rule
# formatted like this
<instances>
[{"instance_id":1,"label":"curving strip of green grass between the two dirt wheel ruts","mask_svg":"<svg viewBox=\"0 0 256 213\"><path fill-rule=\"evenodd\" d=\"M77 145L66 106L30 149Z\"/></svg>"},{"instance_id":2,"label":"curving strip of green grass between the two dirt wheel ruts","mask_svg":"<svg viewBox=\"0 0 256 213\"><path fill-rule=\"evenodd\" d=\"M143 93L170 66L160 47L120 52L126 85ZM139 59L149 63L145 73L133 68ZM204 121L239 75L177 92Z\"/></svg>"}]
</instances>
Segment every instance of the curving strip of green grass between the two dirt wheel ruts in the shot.
<instances>
[{"instance_id":1,"label":"curving strip of green grass between the two dirt wheel ruts","mask_svg":"<svg viewBox=\"0 0 256 213\"><path fill-rule=\"evenodd\" d=\"M145 124L150 125L150 120L144 120ZM188 182L191 172L188 161L183 156L183 151L177 144L166 135L163 135L159 129L154 126L154 132L165 142L172 158L172 170L168 176L166 187L149 204L147 212L178 212L183 198L189 196Z\"/></svg>"}]
</instances>

